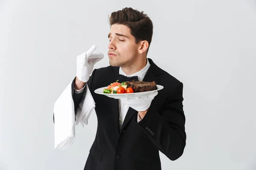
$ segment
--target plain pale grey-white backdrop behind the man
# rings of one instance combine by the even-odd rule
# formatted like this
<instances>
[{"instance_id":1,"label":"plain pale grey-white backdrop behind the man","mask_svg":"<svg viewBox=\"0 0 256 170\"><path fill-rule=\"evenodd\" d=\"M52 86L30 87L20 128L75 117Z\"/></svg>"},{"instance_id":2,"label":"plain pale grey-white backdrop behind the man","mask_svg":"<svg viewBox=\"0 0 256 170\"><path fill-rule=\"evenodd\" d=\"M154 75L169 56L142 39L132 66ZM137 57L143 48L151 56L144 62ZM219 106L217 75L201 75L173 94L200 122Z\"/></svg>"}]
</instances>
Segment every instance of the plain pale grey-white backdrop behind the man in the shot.
<instances>
[{"instance_id":1,"label":"plain pale grey-white backdrop behind the man","mask_svg":"<svg viewBox=\"0 0 256 170\"><path fill-rule=\"evenodd\" d=\"M184 84L187 141L163 170L256 170L255 0L0 1L0 170L83 170L97 121L54 150L55 100L93 44L108 62L108 16L154 24L148 57ZM111 75L110 75L111 76Z\"/></svg>"}]
</instances>

